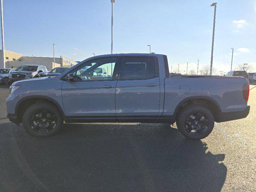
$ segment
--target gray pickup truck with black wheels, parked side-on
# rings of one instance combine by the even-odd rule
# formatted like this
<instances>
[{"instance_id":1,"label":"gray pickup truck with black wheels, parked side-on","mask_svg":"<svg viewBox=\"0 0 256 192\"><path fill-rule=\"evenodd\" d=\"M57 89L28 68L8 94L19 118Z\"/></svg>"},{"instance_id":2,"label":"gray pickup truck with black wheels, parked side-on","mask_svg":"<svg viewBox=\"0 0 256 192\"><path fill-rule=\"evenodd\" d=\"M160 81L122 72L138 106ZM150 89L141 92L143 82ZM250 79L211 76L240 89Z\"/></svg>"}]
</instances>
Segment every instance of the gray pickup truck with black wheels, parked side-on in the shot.
<instances>
[{"instance_id":1,"label":"gray pickup truck with black wheels, parked side-on","mask_svg":"<svg viewBox=\"0 0 256 192\"><path fill-rule=\"evenodd\" d=\"M104 68L108 75L97 74ZM8 118L37 137L63 122L176 122L187 138L208 136L214 122L245 118L246 78L171 76L162 54L110 54L88 58L56 77L14 82Z\"/></svg>"}]
</instances>

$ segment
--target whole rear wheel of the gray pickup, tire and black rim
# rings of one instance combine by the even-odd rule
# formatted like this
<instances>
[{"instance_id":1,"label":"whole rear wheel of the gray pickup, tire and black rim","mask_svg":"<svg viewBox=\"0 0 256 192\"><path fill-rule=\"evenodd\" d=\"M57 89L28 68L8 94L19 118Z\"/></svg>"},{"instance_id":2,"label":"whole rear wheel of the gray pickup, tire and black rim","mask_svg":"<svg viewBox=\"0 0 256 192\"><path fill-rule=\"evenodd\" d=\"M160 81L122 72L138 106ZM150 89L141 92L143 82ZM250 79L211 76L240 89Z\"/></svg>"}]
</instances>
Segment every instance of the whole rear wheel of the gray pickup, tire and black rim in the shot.
<instances>
[{"instance_id":1,"label":"whole rear wheel of the gray pickup, tire and black rim","mask_svg":"<svg viewBox=\"0 0 256 192\"><path fill-rule=\"evenodd\" d=\"M214 116L202 105L188 105L178 112L176 124L183 136L192 140L200 140L212 132Z\"/></svg>"}]
</instances>

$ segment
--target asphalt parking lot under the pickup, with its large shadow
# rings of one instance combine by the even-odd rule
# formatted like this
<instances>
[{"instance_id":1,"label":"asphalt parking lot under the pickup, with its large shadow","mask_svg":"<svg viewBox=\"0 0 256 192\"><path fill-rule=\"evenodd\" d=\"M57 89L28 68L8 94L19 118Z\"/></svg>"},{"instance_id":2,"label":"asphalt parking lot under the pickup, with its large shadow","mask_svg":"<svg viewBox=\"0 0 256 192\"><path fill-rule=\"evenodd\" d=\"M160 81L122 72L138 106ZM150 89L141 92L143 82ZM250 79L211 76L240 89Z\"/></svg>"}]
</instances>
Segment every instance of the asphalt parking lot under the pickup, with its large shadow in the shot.
<instances>
[{"instance_id":1,"label":"asphalt parking lot under the pickup, with its large shadow","mask_svg":"<svg viewBox=\"0 0 256 192\"><path fill-rule=\"evenodd\" d=\"M247 118L216 123L201 141L176 126L64 124L34 138L6 118L0 85L0 191L256 191L256 84Z\"/></svg>"}]
</instances>

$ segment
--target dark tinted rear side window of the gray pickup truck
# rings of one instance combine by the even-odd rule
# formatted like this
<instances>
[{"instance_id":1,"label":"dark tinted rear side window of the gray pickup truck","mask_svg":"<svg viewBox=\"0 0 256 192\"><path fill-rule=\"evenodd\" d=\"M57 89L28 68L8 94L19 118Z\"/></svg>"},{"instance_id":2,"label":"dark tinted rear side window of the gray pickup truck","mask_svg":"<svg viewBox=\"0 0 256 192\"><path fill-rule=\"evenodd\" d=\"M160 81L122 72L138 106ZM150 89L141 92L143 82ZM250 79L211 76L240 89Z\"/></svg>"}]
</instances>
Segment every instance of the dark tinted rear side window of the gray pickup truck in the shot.
<instances>
[{"instance_id":1,"label":"dark tinted rear side window of the gray pickup truck","mask_svg":"<svg viewBox=\"0 0 256 192\"><path fill-rule=\"evenodd\" d=\"M143 80L159 77L156 57L124 57L120 80Z\"/></svg>"}]
</instances>

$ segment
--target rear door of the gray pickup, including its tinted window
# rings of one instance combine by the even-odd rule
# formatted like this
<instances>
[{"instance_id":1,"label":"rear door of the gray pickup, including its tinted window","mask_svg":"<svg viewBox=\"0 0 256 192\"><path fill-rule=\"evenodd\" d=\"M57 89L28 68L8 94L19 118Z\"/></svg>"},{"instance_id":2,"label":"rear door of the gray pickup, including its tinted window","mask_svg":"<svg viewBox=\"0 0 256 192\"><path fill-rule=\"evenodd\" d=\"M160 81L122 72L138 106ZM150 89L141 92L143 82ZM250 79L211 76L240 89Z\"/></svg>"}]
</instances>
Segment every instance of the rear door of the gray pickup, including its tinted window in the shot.
<instances>
[{"instance_id":1,"label":"rear door of the gray pickup, including its tinted window","mask_svg":"<svg viewBox=\"0 0 256 192\"><path fill-rule=\"evenodd\" d=\"M153 56L123 57L116 85L116 118L154 119L159 113L158 60Z\"/></svg>"}]
</instances>

